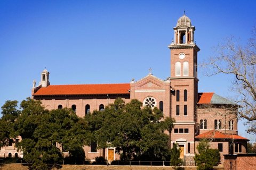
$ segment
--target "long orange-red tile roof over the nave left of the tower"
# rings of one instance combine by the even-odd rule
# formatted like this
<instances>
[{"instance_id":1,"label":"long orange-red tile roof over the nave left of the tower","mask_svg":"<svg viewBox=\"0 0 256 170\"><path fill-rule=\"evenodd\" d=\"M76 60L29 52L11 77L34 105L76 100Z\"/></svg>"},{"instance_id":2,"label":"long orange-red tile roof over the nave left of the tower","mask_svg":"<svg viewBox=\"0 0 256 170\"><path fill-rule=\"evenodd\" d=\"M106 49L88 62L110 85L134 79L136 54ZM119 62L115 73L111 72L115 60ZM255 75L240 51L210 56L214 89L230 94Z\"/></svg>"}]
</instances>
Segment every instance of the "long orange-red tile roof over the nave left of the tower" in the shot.
<instances>
[{"instance_id":1,"label":"long orange-red tile roof over the nave left of the tower","mask_svg":"<svg viewBox=\"0 0 256 170\"><path fill-rule=\"evenodd\" d=\"M50 85L40 88L33 96L130 94L128 90L130 83Z\"/></svg>"}]
</instances>

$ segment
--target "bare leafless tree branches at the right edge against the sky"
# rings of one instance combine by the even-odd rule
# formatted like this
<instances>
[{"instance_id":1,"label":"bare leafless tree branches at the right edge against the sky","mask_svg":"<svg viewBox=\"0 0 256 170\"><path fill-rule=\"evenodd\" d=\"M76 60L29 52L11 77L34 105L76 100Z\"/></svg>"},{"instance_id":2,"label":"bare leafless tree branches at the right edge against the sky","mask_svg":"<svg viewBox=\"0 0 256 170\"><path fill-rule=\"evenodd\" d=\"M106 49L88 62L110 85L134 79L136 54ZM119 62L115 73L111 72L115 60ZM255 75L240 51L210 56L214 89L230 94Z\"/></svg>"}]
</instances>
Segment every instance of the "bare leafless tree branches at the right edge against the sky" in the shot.
<instances>
[{"instance_id":1,"label":"bare leafless tree branches at the right edge against the sky","mask_svg":"<svg viewBox=\"0 0 256 170\"><path fill-rule=\"evenodd\" d=\"M201 64L206 75L229 74L234 78L233 98L239 106L238 117L250 124L248 132L256 134L256 25L247 45L242 45L234 37L214 48L214 55Z\"/></svg>"}]
</instances>

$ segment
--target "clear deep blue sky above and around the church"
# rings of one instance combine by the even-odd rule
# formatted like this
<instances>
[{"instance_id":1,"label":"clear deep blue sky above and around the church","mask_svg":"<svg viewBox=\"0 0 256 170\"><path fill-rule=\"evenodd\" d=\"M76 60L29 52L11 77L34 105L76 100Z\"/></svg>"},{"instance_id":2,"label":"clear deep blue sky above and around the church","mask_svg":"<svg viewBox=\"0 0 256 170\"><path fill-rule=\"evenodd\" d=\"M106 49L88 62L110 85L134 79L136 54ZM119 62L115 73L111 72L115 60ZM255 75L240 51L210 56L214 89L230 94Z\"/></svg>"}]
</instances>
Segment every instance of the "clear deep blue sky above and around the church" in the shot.
<instances>
[{"instance_id":1,"label":"clear deep blue sky above and around the church","mask_svg":"<svg viewBox=\"0 0 256 170\"><path fill-rule=\"evenodd\" d=\"M153 69L170 77L173 27L183 10L196 27L198 63L231 35L245 44L256 24L255 1L0 1L0 106L31 95L50 72L51 84L124 83ZM230 77L206 77L199 92L230 94ZM239 134L246 134L240 121Z\"/></svg>"}]
</instances>

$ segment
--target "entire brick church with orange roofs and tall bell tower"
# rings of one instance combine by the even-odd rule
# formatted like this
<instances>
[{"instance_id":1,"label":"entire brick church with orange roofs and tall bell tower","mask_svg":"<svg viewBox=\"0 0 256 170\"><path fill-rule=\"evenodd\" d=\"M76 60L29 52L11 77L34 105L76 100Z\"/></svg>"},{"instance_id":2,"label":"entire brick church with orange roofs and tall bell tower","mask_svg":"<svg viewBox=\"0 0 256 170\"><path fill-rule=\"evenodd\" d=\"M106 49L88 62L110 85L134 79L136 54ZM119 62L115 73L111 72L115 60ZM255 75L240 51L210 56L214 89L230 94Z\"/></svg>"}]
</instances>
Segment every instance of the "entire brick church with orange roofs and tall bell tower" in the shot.
<instances>
[{"instance_id":1,"label":"entire brick church with orange roofs and tall bell tower","mask_svg":"<svg viewBox=\"0 0 256 170\"><path fill-rule=\"evenodd\" d=\"M150 69L146 77L132 79L130 83L50 85L50 73L44 70L39 86L33 83L32 98L41 100L46 109L72 108L79 117L104 109L117 97L125 103L138 99L143 106L158 107L165 117L175 119L174 129L169 134L170 143L178 143L180 157L187 162L194 161L196 146L203 138L210 139L211 147L219 149L221 163L224 154L246 154L249 140L237 134L237 106L212 92L198 92L197 53L200 49L194 41L195 27L184 14L173 30L174 40L168 46L171 71L166 80L155 77ZM115 148L97 150L96 147L96 143L84 146L86 158L119 158L114 154Z\"/></svg>"}]
</instances>

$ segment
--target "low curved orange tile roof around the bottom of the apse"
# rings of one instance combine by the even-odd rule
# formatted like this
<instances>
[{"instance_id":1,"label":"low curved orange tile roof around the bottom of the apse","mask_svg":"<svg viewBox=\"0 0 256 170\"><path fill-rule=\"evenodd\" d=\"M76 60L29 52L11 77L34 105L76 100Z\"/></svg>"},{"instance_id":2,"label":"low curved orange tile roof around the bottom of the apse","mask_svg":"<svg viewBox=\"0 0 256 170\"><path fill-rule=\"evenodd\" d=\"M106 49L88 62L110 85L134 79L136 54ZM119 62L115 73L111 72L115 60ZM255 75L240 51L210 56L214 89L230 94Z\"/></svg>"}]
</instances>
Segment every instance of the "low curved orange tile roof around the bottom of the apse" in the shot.
<instances>
[{"instance_id":1,"label":"low curved orange tile roof around the bottom of the apse","mask_svg":"<svg viewBox=\"0 0 256 170\"><path fill-rule=\"evenodd\" d=\"M202 134L199 134L196 136L196 139L202 139L202 138L206 138L206 139L240 139L240 140L248 140L244 137L241 137L237 134L225 134L225 133L221 133L219 131L215 131L215 130L211 130L209 132L205 132Z\"/></svg>"}]
</instances>

